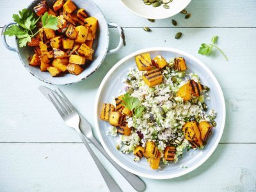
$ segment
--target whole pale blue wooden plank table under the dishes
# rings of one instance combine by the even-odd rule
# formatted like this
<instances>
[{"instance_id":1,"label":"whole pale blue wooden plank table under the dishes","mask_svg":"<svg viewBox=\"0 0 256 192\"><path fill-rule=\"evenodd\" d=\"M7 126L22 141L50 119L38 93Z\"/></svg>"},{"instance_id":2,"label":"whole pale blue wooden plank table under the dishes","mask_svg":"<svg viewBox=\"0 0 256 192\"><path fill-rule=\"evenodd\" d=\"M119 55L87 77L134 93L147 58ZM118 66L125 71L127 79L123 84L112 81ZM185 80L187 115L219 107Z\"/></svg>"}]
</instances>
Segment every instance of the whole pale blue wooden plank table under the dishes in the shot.
<instances>
[{"instance_id":1,"label":"whole pale blue wooden plank table under the dishes","mask_svg":"<svg viewBox=\"0 0 256 192\"><path fill-rule=\"evenodd\" d=\"M29 2L1 1L0 27ZM76 108L93 125L93 100L100 82L109 68L131 52L154 46L189 52L221 84L227 107L225 130L216 151L202 166L176 179L143 179L147 191L256 191L256 1L194 0L187 8L191 18L173 17L177 27L172 26L172 19L148 22L117 0L95 2L109 22L124 28L127 45L108 56L86 81L61 87ZM143 26L152 32L143 31ZM179 31L182 38L175 40ZM111 47L115 47L118 33L115 29L110 33ZM228 62L218 52L209 57L197 54L200 44L213 35L220 36L218 45ZM14 45L12 38L10 44ZM38 91L44 83L26 71L15 52L3 45L0 50L0 191L108 191L77 134ZM133 191L101 154L99 158L124 191Z\"/></svg>"}]
</instances>

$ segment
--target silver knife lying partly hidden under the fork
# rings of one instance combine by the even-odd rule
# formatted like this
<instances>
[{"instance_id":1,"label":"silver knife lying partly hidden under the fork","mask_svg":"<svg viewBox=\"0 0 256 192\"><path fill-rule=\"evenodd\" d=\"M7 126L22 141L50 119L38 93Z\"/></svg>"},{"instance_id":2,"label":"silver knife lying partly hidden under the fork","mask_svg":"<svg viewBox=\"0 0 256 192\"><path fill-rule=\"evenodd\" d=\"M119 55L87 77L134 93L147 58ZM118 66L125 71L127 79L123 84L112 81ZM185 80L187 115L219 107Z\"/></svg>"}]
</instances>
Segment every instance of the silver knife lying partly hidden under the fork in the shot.
<instances>
[{"instance_id":1,"label":"silver knife lying partly hidden under the fork","mask_svg":"<svg viewBox=\"0 0 256 192\"><path fill-rule=\"evenodd\" d=\"M46 86L39 86L38 89L51 102L48 94L54 93L54 90L51 90ZM113 161L113 159L109 157L109 155L106 153L102 145L100 145L99 141L97 141L96 138L93 136L92 126L89 124L89 122L80 113L79 113L79 116L80 116L79 127L81 129L81 132L83 132L84 137L93 143L93 145L108 159L108 161L111 164L113 164L113 166L115 166L116 170L118 170L118 172L120 172L124 176L124 178L131 184L131 186L134 189L136 189L136 191L145 191L146 185L143 182L143 180L141 180L140 177L138 177L137 175L134 175L133 173L130 173L127 170L124 170L124 168L116 164L115 161Z\"/></svg>"}]
</instances>

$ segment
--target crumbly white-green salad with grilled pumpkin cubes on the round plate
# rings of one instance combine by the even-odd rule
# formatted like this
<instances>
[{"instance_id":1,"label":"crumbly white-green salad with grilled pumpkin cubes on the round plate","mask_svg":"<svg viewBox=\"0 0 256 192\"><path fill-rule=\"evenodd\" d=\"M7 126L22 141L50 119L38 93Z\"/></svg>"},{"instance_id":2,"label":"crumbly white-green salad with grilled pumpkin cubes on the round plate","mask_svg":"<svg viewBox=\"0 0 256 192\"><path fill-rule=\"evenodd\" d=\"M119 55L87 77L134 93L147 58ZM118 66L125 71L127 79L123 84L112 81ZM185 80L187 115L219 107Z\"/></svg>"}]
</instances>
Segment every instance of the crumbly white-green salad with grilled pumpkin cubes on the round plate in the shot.
<instances>
[{"instance_id":1,"label":"crumbly white-green salad with grilled pumpkin cubes on the round plate","mask_svg":"<svg viewBox=\"0 0 256 192\"><path fill-rule=\"evenodd\" d=\"M124 79L125 92L101 108L109 134L118 136L116 148L147 159L153 170L177 163L187 150L202 149L216 126L214 109L206 104L210 88L189 73L186 60L149 53L135 57Z\"/></svg>"}]
</instances>

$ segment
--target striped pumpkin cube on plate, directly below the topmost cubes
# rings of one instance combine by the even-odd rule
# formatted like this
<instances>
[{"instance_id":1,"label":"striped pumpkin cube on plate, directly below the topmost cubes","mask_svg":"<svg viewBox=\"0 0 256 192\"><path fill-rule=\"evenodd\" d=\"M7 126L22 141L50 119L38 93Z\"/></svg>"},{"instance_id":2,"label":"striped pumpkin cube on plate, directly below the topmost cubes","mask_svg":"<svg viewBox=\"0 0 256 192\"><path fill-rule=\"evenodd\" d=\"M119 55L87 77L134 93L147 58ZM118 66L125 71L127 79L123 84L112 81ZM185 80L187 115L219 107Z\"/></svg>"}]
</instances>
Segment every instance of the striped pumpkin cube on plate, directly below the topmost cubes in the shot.
<instances>
[{"instance_id":1,"label":"striped pumpkin cube on plate, directly below the topmost cubes","mask_svg":"<svg viewBox=\"0 0 256 192\"><path fill-rule=\"evenodd\" d=\"M161 74L160 69L154 69L154 70L149 70L148 72L143 74L142 79L145 81L145 83L149 87L152 87L152 86L162 83L163 75Z\"/></svg>"}]
</instances>

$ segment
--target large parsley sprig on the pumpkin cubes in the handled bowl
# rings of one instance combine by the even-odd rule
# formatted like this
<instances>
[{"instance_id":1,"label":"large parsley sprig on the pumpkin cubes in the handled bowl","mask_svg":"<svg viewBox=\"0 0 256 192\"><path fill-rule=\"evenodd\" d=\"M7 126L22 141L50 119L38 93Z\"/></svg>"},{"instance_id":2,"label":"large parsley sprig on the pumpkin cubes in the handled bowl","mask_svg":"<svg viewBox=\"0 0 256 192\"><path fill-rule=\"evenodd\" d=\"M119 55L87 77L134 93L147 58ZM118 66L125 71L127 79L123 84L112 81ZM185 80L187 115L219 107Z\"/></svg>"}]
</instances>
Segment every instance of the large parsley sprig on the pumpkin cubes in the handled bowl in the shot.
<instances>
[{"instance_id":1,"label":"large parsley sprig on the pumpkin cubes in the handled bowl","mask_svg":"<svg viewBox=\"0 0 256 192\"><path fill-rule=\"evenodd\" d=\"M19 11L19 14L13 14L12 18L14 22L17 22L17 25L10 26L10 28L4 31L4 35L17 36L17 38L19 38L19 47L25 47L28 42L31 42L31 38L33 38L33 36L43 29L58 29L57 17L48 15L47 12L42 15L43 27L35 33L33 33L33 31L36 28L36 23L41 17L36 19L34 17L34 13L25 8Z\"/></svg>"}]
</instances>

